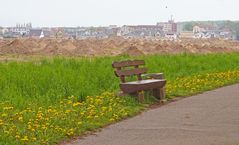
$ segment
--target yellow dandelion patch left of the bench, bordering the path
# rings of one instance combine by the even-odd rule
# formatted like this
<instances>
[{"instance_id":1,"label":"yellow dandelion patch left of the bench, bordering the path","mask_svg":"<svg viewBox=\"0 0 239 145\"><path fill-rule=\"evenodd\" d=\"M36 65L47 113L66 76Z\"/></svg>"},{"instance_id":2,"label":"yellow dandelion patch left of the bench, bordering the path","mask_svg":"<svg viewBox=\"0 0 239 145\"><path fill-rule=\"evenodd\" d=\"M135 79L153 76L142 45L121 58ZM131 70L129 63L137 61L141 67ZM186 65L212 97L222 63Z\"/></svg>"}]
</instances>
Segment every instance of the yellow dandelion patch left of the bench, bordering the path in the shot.
<instances>
[{"instance_id":1,"label":"yellow dandelion patch left of the bench, bordering the path","mask_svg":"<svg viewBox=\"0 0 239 145\"><path fill-rule=\"evenodd\" d=\"M132 97L119 98L109 92L88 96L85 101L70 96L52 106L25 107L18 110L9 102L0 104L1 144L56 144L143 109Z\"/></svg>"}]
</instances>

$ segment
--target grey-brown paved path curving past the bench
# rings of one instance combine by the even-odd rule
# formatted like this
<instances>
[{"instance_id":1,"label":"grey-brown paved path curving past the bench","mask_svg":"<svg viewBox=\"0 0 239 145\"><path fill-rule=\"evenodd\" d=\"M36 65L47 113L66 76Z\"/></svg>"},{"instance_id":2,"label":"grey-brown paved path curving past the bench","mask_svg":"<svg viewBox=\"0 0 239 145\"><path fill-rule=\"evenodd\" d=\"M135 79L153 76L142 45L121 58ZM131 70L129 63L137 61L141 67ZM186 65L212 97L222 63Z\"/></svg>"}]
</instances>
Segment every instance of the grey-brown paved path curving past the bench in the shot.
<instances>
[{"instance_id":1,"label":"grey-brown paved path curving past the bench","mask_svg":"<svg viewBox=\"0 0 239 145\"><path fill-rule=\"evenodd\" d=\"M239 145L239 85L149 110L72 145Z\"/></svg>"}]
</instances>

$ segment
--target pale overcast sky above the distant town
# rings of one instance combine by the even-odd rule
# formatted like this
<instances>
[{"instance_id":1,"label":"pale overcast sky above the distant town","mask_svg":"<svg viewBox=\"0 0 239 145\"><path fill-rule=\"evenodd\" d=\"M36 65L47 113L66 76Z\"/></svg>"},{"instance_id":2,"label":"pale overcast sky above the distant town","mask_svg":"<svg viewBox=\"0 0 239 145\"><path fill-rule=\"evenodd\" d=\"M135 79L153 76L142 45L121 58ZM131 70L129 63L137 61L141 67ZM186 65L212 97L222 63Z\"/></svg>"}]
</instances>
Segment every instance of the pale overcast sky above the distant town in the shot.
<instances>
[{"instance_id":1,"label":"pale overcast sky above the distant town","mask_svg":"<svg viewBox=\"0 0 239 145\"><path fill-rule=\"evenodd\" d=\"M0 26L107 26L239 20L239 0L0 0Z\"/></svg>"}]
</instances>

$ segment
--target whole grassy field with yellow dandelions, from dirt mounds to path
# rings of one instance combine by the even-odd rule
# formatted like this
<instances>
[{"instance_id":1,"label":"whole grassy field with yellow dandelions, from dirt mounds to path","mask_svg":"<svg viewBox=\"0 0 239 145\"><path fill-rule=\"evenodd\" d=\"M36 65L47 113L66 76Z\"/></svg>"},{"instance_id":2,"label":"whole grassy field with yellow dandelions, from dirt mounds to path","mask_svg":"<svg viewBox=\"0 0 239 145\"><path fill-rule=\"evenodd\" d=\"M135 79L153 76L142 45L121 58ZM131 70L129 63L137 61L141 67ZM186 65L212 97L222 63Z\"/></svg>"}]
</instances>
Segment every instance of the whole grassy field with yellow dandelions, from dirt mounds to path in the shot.
<instances>
[{"instance_id":1,"label":"whole grassy field with yellow dandelions, from dirt mounds to path","mask_svg":"<svg viewBox=\"0 0 239 145\"><path fill-rule=\"evenodd\" d=\"M0 144L56 144L135 115L147 103L117 98L111 64L127 56L0 63ZM163 72L167 98L239 82L239 54L142 56Z\"/></svg>"}]
</instances>

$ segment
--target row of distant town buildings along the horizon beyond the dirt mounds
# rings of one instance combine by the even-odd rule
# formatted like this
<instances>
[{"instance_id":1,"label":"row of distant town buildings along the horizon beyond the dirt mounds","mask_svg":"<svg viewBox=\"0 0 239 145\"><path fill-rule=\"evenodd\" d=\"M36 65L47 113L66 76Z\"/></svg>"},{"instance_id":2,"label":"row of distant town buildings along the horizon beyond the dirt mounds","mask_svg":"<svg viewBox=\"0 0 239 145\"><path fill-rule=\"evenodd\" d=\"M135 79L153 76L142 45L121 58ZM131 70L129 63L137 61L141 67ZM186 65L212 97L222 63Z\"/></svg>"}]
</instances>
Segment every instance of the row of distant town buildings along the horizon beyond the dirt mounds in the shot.
<instances>
[{"instance_id":1,"label":"row of distant town buildings along the horizon beyond the dirt mounds","mask_svg":"<svg viewBox=\"0 0 239 145\"><path fill-rule=\"evenodd\" d=\"M229 28L217 28L211 25L195 25L193 31L183 31L180 23L172 19L156 25L124 25L118 27L58 27L58 28L33 28L31 23L17 24L15 27L0 27L0 38L222 38L235 39L235 32Z\"/></svg>"}]
</instances>

